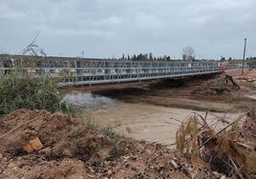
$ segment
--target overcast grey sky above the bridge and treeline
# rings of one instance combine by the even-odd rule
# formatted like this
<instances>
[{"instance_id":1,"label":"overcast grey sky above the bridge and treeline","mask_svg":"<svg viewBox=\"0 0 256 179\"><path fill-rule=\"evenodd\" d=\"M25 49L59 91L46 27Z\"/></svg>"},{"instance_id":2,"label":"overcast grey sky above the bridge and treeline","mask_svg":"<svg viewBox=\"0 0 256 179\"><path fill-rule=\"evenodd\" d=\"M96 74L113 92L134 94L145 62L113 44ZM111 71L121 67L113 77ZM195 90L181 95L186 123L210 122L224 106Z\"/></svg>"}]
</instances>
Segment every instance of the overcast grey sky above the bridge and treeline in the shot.
<instances>
[{"instance_id":1,"label":"overcast grey sky above the bridge and treeline","mask_svg":"<svg viewBox=\"0 0 256 179\"><path fill-rule=\"evenodd\" d=\"M256 56L256 0L0 0L0 52L20 53L36 34L48 55L181 58Z\"/></svg>"}]
</instances>

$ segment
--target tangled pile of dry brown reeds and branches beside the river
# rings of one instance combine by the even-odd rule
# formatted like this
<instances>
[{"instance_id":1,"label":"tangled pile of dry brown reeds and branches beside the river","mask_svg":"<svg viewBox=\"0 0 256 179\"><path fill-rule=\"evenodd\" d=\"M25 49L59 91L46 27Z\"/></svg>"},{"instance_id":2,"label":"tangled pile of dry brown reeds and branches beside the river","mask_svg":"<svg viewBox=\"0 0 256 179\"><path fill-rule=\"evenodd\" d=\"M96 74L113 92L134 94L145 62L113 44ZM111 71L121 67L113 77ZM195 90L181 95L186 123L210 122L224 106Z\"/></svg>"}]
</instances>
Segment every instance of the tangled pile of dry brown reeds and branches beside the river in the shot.
<instances>
[{"instance_id":1,"label":"tangled pile of dry brown reeds and branches beside the river","mask_svg":"<svg viewBox=\"0 0 256 179\"><path fill-rule=\"evenodd\" d=\"M207 114L207 113L206 113ZM207 164L228 177L256 177L256 118L248 110L229 122L192 113L177 131L177 149L195 165Z\"/></svg>"}]
</instances>

